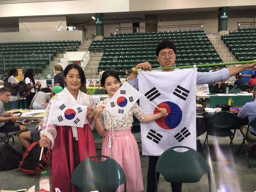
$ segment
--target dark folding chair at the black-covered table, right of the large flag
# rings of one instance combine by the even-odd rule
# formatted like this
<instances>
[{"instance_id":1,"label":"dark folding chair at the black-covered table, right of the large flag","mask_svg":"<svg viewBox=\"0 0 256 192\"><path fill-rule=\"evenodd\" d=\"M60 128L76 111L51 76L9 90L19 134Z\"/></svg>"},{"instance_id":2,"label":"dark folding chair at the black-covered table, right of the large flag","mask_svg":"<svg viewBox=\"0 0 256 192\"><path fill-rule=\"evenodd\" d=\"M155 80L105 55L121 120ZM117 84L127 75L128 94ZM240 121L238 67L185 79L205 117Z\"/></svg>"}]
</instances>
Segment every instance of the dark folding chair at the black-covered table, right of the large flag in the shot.
<instances>
[{"instance_id":1,"label":"dark folding chair at the black-covered table, right of the large flag","mask_svg":"<svg viewBox=\"0 0 256 192\"><path fill-rule=\"evenodd\" d=\"M210 156L209 156L209 144L208 144L208 135L215 136L215 137L229 137L230 143L234 155L235 163L237 163L235 158L235 152L233 148L233 139L235 136L234 133L231 131L232 129L237 129L237 117L228 111L220 111L215 114L213 114L209 120L208 120L208 127L206 130L206 137L205 142L207 141L207 154L208 159L210 162ZM205 142L203 144L203 148L205 147Z\"/></svg>"}]
</instances>

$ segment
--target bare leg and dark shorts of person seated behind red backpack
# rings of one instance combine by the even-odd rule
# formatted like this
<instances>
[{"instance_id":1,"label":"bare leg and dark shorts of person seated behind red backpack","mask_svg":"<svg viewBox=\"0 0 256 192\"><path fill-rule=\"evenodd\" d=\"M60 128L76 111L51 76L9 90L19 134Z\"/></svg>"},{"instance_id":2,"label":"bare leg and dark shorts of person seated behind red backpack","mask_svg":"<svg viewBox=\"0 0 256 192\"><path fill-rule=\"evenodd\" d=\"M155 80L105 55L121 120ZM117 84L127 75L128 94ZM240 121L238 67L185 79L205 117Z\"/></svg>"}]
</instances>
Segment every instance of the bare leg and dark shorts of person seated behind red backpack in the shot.
<instances>
[{"instance_id":1,"label":"bare leg and dark shorts of person seated behind red backpack","mask_svg":"<svg viewBox=\"0 0 256 192\"><path fill-rule=\"evenodd\" d=\"M42 125L43 125L43 121L40 121L37 124L36 130L26 131L19 134L19 141L21 142L21 144L24 146L25 149L28 149L31 143L38 142L41 139L40 131L42 130L41 128ZM22 148L22 151L24 148Z\"/></svg>"}]
</instances>

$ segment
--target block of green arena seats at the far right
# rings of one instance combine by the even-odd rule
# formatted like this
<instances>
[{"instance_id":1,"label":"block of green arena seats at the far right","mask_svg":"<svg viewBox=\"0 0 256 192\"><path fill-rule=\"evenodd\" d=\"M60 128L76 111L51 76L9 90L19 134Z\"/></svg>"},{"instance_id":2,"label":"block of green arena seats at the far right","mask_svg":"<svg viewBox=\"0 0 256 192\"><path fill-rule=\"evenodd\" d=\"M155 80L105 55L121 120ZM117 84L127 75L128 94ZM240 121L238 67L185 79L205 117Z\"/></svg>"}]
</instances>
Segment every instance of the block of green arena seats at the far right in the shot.
<instances>
[{"instance_id":1,"label":"block of green arena seats at the far right","mask_svg":"<svg viewBox=\"0 0 256 192\"><path fill-rule=\"evenodd\" d=\"M238 61L256 59L256 28L230 31L228 35L222 35L221 39Z\"/></svg>"}]
</instances>

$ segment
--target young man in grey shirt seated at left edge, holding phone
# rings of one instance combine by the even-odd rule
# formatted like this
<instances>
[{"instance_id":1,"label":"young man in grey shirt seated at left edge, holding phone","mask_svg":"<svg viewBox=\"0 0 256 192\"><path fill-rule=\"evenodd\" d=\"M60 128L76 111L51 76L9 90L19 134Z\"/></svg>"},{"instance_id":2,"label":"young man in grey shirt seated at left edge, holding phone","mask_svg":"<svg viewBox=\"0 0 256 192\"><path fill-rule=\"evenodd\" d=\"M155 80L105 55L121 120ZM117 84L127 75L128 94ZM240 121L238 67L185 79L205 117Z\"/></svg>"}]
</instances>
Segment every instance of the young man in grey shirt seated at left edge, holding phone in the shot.
<instances>
[{"instance_id":1,"label":"young man in grey shirt seated at left edge, holding phone","mask_svg":"<svg viewBox=\"0 0 256 192\"><path fill-rule=\"evenodd\" d=\"M18 115L12 113L6 113L3 103L7 103L11 96L11 90L7 87L0 89L0 135L1 137L18 135L21 132L28 131L27 127L22 125L21 122L15 122L19 120Z\"/></svg>"}]
</instances>

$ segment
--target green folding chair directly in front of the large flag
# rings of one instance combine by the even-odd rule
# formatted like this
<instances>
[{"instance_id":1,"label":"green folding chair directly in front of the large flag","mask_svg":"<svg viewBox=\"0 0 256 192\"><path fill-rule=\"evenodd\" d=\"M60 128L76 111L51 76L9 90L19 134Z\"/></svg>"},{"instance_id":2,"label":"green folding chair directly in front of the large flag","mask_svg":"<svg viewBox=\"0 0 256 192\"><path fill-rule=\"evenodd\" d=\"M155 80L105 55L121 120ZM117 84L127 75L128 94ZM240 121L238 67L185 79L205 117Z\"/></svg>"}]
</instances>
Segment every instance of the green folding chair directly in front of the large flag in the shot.
<instances>
[{"instance_id":1,"label":"green folding chair directly in front of the large flag","mask_svg":"<svg viewBox=\"0 0 256 192\"><path fill-rule=\"evenodd\" d=\"M173 149L185 148L185 152L177 152ZM185 146L175 146L167 149L159 157L155 168L155 191L157 189L157 173L161 173L167 182L196 183L207 173L209 191L211 192L210 169L203 156Z\"/></svg>"}]
</instances>

